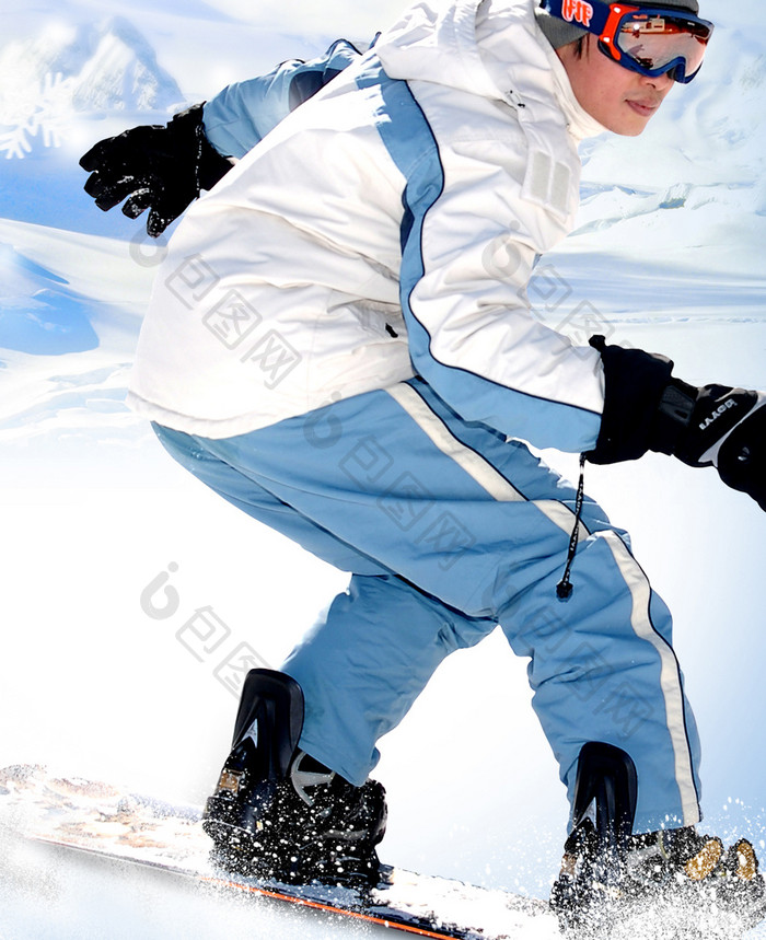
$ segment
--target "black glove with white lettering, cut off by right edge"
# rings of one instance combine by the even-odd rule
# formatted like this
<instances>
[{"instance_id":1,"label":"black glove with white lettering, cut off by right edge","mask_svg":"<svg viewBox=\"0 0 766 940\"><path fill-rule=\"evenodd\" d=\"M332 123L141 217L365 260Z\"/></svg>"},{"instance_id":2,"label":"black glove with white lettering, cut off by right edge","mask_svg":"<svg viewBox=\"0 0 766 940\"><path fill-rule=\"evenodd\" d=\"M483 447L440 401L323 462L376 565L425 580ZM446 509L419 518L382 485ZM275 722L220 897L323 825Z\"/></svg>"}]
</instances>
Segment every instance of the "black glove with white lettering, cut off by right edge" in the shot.
<instances>
[{"instance_id":1,"label":"black glove with white lettering, cut off by right edge","mask_svg":"<svg viewBox=\"0 0 766 940\"><path fill-rule=\"evenodd\" d=\"M604 411L591 463L635 460L647 451L689 466L715 466L732 489L766 512L766 394L726 385L687 385L673 362L594 336L605 374Z\"/></svg>"}]
</instances>

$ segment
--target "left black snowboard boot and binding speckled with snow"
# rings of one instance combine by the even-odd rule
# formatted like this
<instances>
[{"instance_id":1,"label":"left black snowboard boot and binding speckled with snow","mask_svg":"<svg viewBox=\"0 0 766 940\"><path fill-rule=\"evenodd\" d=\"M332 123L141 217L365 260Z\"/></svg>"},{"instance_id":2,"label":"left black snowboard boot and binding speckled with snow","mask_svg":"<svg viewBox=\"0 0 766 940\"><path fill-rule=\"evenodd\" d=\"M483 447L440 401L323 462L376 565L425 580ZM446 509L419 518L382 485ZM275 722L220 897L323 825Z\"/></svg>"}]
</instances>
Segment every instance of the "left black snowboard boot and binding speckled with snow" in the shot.
<instances>
[{"instance_id":1,"label":"left black snowboard boot and binding speckled with snow","mask_svg":"<svg viewBox=\"0 0 766 940\"><path fill-rule=\"evenodd\" d=\"M252 670L232 751L202 827L229 871L288 883L378 884L385 791L355 787L298 748L303 695L290 676Z\"/></svg>"}]
</instances>

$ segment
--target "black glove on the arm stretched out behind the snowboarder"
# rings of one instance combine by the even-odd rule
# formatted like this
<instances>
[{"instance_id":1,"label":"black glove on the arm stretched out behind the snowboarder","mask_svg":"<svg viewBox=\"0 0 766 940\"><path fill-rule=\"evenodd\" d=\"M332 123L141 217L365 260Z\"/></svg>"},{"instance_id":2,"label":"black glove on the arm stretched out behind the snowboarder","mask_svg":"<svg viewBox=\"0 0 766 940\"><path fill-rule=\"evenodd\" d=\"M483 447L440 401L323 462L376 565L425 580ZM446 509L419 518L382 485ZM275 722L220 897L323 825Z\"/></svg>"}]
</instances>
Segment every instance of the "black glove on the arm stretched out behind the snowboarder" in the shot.
<instances>
[{"instance_id":1,"label":"black glove on the arm stretched out behind the snowboarder","mask_svg":"<svg viewBox=\"0 0 766 940\"><path fill-rule=\"evenodd\" d=\"M156 237L232 164L205 136L202 105L196 104L166 126L134 127L107 137L81 158L80 166L91 173L85 192L100 209L107 211L123 199L130 219L150 209L147 232Z\"/></svg>"}]
</instances>

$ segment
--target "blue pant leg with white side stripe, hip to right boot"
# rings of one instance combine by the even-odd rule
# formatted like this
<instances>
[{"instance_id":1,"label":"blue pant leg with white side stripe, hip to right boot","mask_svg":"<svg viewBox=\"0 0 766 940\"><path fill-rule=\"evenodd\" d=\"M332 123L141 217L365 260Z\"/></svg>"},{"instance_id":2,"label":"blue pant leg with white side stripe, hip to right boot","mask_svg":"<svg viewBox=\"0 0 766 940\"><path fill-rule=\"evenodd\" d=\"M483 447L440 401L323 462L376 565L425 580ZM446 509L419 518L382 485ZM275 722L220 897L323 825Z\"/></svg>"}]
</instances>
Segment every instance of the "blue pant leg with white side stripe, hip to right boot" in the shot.
<instances>
[{"instance_id":1,"label":"blue pant leg with white side stripe, hip to right boot","mask_svg":"<svg viewBox=\"0 0 766 940\"><path fill-rule=\"evenodd\" d=\"M670 615L592 501L574 595L557 600L574 494L526 448L462 421L417 381L199 444L422 594L499 620L531 657L535 708L570 790L582 744L608 741L637 764L639 827L697 821L698 742Z\"/></svg>"}]
</instances>

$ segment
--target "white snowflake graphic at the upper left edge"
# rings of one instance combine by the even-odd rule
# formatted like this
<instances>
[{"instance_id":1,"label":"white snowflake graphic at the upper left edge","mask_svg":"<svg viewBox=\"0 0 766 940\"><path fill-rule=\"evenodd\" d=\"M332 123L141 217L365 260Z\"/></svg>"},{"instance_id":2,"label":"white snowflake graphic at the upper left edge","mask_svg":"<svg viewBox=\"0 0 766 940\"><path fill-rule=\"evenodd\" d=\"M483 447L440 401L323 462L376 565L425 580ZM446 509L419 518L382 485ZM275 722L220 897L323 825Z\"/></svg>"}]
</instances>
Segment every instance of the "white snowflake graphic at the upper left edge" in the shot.
<instances>
[{"instance_id":1,"label":"white snowflake graphic at the upper left edge","mask_svg":"<svg viewBox=\"0 0 766 940\"><path fill-rule=\"evenodd\" d=\"M0 153L5 159L23 160L35 140L43 147L61 146L73 109L72 84L71 78L48 73L0 93Z\"/></svg>"}]
</instances>

